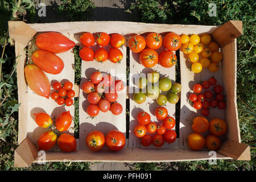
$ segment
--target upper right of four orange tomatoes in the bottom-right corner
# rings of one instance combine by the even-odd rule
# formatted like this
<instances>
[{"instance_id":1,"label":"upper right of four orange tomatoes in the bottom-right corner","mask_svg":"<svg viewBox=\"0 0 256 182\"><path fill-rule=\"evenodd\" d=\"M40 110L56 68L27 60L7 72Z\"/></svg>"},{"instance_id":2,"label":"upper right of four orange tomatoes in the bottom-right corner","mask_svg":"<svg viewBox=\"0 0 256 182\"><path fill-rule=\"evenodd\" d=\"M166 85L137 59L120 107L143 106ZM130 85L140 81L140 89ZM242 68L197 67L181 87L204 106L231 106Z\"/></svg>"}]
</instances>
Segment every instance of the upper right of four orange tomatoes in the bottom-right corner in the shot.
<instances>
[{"instance_id":1,"label":"upper right of four orange tomatoes in the bottom-right corner","mask_svg":"<svg viewBox=\"0 0 256 182\"><path fill-rule=\"evenodd\" d=\"M227 126L225 121L219 118L212 119L209 122L209 131L215 136L220 136L226 133Z\"/></svg>"}]
</instances>

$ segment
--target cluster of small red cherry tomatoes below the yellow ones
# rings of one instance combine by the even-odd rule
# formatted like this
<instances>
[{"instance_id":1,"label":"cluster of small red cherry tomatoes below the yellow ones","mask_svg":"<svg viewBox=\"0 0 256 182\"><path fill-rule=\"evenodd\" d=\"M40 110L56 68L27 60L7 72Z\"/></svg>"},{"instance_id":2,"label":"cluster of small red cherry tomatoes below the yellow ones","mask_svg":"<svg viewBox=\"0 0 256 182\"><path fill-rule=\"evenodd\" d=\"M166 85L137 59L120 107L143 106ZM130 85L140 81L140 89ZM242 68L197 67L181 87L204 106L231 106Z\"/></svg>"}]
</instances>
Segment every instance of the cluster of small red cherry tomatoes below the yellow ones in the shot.
<instances>
[{"instance_id":1,"label":"cluster of small red cherry tomatoes below the yellow ones","mask_svg":"<svg viewBox=\"0 0 256 182\"><path fill-rule=\"evenodd\" d=\"M225 109L226 103L222 94L223 88L221 85L216 85L216 78L212 77L208 81L203 81L201 84L195 84L193 86L194 93L189 94L188 100L191 105L199 110L204 116L209 115L209 107L218 107L218 109ZM213 86L212 90L207 90ZM203 89L205 89L204 93Z\"/></svg>"}]
</instances>

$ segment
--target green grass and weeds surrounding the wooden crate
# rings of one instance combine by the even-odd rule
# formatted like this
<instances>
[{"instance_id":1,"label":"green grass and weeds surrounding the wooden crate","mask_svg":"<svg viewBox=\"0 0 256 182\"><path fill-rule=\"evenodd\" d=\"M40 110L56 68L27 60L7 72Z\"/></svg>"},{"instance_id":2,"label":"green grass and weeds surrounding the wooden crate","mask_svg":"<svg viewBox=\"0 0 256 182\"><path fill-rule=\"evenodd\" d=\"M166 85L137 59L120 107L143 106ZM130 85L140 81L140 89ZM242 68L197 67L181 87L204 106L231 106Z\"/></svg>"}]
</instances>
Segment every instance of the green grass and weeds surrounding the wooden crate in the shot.
<instances>
[{"instance_id":1,"label":"green grass and weeds surrounding the wooden crate","mask_svg":"<svg viewBox=\"0 0 256 182\"><path fill-rule=\"evenodd\" d=\"M228 20L242 20L243 35L237 38L237 104L240 119L242 143L251 146L251 161L217 160L217 164L210 165L208 161L173 162L173 163L134 163L135 170L254 170L255 169L255 9L254 1L216 0L217 16L208 15L208 5L213 1L176 0L168 4L167 1L137 0L122 1L126 12L135 21L147 23L174 24L205 24L220 25ZM36 11L29 7L32 1L1 1L0 14L0 44L2 48L0 59L0 170L88 170L90 163L47 163L46 165L32 164L29 168L14 168L14 150L18 147L18 96L15 73L14 46L7 34L7 20L26 20L35 23ZM94 5L89 0L67 1L57 11L67 16L67 21L88 20L92 15ZM81 16L83 14L83 16ZM2 26L3 25L3 26ZM78 56L79 48L75 48L75 83L79 84L81 60ZM179 67L177 67L179 68ZM179 78L179 74L176 75ZM78 99L75 100L75 126L79 125L77 117ZM75 137L79 131L76 127Z\"/></svg>"}]
</instances>

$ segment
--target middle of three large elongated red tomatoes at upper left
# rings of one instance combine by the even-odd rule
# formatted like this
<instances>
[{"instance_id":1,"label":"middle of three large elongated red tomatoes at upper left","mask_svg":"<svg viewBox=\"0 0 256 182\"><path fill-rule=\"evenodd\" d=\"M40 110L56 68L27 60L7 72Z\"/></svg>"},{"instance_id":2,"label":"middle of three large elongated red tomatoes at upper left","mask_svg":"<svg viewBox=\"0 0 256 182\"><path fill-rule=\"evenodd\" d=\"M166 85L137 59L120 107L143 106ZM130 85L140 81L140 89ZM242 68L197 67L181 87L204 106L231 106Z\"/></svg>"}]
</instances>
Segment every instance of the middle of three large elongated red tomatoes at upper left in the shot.
<instances>
[{"instance_id":1,"label":"middle of three large elongated red tomatoes at upper left","mask_svg":"<svg viewBox=\"0 0 256 182\"><path fill-rule=\"evenodd\" d=\"M53 75L59 74L64 68L63 60L59 56L43 49L33 52L31 59L38 68Z\"/></svg>"}]
</instances>

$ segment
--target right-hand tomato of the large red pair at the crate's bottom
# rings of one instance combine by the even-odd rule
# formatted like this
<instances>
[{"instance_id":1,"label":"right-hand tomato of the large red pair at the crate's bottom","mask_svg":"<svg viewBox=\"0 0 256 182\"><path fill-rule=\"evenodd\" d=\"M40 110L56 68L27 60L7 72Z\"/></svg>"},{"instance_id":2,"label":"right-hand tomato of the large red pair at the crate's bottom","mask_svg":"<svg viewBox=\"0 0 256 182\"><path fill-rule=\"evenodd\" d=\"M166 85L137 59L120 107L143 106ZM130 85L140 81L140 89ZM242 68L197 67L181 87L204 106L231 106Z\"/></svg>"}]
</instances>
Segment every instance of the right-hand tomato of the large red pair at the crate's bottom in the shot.
<instances>
[{"instance_id":1,"label":"right-hand tomato of the large red pair at the crate's bottom","mask_svg":"<svg viewBox=\"0 0 256 182\"><path fill-rule=\"evenodd\" d=\"M118 130L112 130L106 135L106 146L113 151L122 150L125 146L125 135Z\"/></svg>"}]
</instances>

